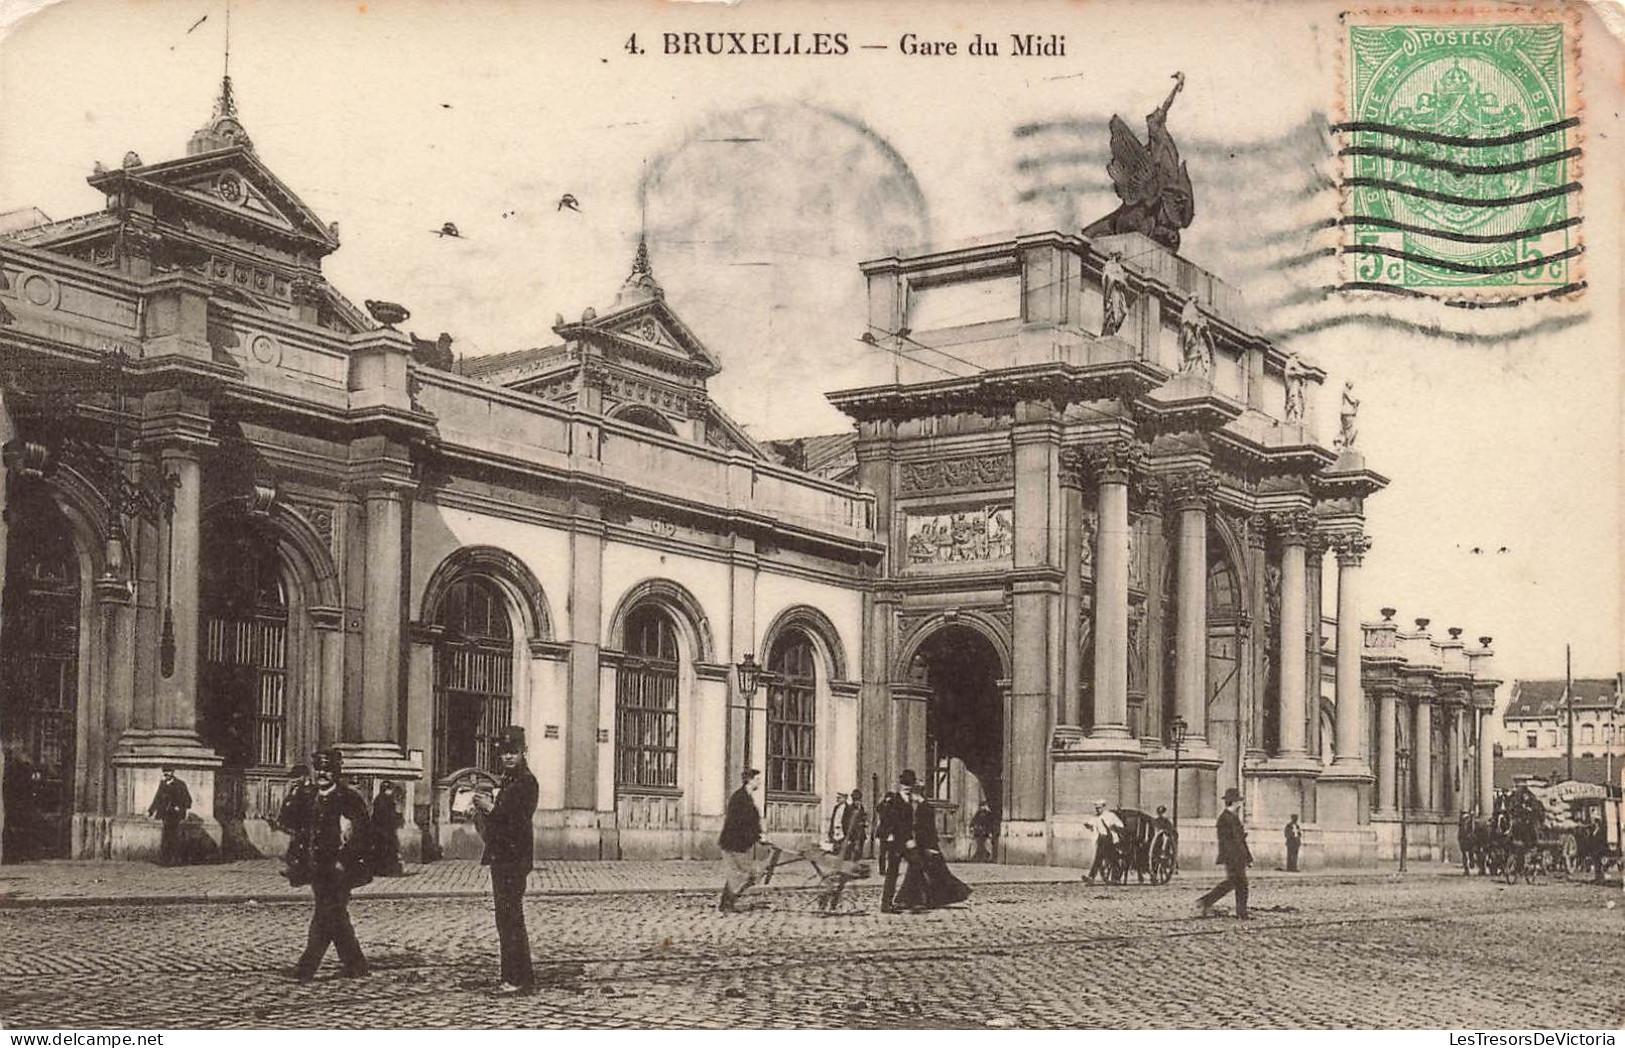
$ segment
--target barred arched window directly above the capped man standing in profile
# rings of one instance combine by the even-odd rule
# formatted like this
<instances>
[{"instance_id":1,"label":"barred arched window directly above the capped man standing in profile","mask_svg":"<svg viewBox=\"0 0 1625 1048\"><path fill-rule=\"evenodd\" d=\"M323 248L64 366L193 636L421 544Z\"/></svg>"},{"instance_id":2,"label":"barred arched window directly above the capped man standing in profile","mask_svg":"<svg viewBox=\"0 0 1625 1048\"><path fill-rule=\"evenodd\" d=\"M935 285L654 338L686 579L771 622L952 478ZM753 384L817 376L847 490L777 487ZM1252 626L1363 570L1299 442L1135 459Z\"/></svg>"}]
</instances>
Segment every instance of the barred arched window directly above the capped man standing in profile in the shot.
<instances>
[{"instance_id":1,"label":"barred arched window directly above the capped man standing in profile","mask_svg":"<svg viewBox=\"0 0 1625 1048\"><path fill-rule=\"evenodd\" d=\"M486 578L453 582L436 616L434 767L496 770L496 741L514 717L514 626Z\"/></svg>"}]
</instances>

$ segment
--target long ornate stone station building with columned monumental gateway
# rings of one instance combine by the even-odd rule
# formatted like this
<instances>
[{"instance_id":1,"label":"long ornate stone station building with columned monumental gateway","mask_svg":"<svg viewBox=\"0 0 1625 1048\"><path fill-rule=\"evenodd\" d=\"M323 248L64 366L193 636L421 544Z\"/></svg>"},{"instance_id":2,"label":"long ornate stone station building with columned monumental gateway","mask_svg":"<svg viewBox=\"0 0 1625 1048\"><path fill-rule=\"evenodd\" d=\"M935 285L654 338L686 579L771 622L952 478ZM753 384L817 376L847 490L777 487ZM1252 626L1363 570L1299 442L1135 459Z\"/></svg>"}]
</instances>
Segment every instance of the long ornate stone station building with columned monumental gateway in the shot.
<instances>
[{"instance_id":1,"label":"long ornate stone station building with columned monumental gateway","mask_svg":"<svg viewBox=\"0 0 1625 1048\"><path fill-rule=\"evenodd\" d=\"M774 838L913 767L951 838L986 799L1027 863L1175 791L1211 861L1240 786L1368 864L1402 765L1438 842L1487 782L1487 640L1360 622L1386 481L1352 418L1326 447L1323 372L1138 234L864 263L895 380L767 447L647 245L601 312L462 366L353 305L229 81L185 156L89 184L0 234L8 861L154 855L164 765L206 848L276 853L332 744L405 788L408 855L471 855L452 795L507 725L554 858L715 855L746 765Z\"/></svg>"}]
</instances>

